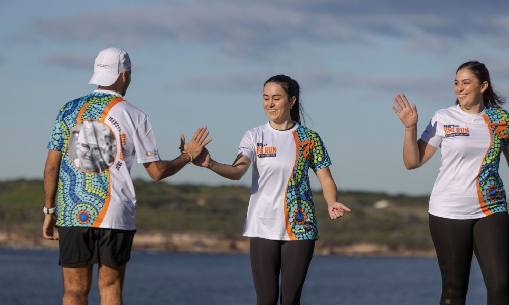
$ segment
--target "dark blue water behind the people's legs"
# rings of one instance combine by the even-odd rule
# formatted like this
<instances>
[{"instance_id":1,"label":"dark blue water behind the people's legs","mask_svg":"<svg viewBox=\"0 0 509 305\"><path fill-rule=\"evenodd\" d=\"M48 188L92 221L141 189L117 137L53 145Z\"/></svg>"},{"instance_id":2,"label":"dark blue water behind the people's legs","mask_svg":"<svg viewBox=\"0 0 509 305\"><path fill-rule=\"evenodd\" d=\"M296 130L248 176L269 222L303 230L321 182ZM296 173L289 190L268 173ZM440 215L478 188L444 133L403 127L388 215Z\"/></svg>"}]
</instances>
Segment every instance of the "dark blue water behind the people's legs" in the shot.
<instances>
[{"instance_id":1,"label":"dark blue water behind the people's legs","mask_svg":"<svg viewBox=\"0 0 509 305\"><path fill-rule=\"evenodd\" d=\"M89 304L99 304L97 268ZM301 304L430 305L440 298L440 271L432 258L315 256ZM0 249L0 304L59 304L62 272L55 250ZM133 252L124 304L256 304L249 256ZM467 304L486 303L473 260Z\"/></svg>"}]
</instances>

